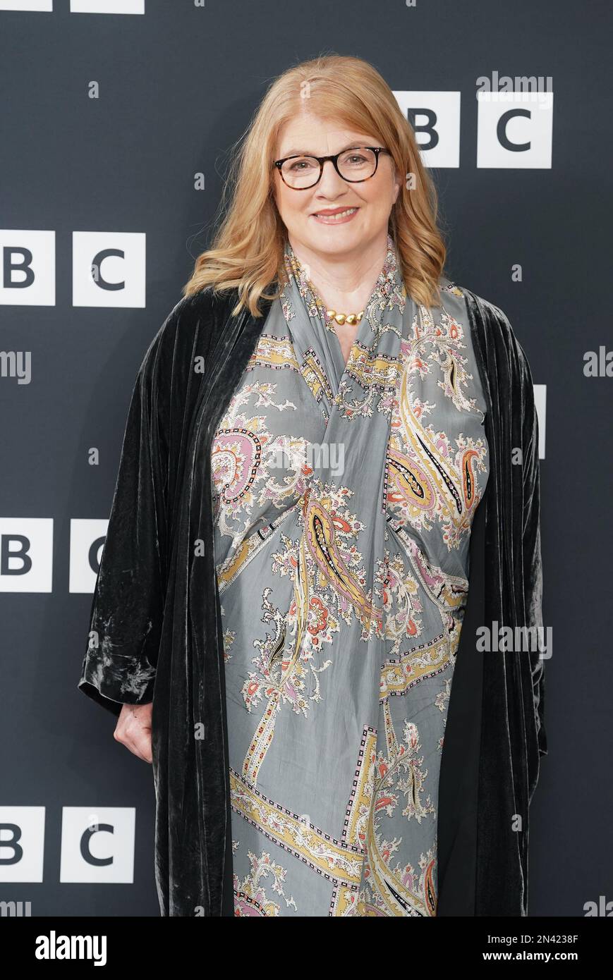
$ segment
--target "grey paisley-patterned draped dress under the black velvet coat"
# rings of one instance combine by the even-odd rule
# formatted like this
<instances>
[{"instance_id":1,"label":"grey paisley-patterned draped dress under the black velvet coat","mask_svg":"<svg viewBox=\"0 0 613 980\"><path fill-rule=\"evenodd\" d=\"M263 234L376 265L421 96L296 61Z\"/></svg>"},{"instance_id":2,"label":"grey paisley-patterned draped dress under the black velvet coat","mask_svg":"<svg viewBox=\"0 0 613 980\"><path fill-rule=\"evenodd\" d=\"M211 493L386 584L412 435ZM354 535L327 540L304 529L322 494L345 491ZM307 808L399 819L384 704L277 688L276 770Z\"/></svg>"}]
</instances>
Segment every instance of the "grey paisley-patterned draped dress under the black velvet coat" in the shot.
<instances>
[{"instance_id":1,"label":"grey paisley-patterned draped dress under the black velvet coat","mask_svg":"<svg viewBox=\"0 0 613 980\"><path fill-rule=\"evenodd\" d=\"M488 476L461 289L390 237L345 366L291 246L212 451L236 915L436 914L440 757Z\"/></svg>"}]
</instances>

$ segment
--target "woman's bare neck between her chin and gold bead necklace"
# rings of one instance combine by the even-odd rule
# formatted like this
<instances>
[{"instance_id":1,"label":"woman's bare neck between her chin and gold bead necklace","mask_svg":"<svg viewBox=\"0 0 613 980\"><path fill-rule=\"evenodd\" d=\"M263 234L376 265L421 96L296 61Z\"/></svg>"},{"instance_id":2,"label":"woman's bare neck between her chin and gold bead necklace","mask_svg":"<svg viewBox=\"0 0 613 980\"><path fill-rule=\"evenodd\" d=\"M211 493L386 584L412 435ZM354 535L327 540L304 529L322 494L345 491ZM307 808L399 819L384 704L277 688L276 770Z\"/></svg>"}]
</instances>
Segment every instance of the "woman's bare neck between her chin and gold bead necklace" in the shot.
<instances>
[{"instance_id":1,"label":"woman's bare neck between her chin and gold bead necklace","mask_svg":"<svg viewBox=\"0 0 613 980\"><path fill-rule=\"evenodd\" d=\"M387 231L359 251L342 255L314 252L288 235L298 261L308 269L308 277L329 310L357 313L367 303L387 252Z\"/></svg>"}]
</instances>

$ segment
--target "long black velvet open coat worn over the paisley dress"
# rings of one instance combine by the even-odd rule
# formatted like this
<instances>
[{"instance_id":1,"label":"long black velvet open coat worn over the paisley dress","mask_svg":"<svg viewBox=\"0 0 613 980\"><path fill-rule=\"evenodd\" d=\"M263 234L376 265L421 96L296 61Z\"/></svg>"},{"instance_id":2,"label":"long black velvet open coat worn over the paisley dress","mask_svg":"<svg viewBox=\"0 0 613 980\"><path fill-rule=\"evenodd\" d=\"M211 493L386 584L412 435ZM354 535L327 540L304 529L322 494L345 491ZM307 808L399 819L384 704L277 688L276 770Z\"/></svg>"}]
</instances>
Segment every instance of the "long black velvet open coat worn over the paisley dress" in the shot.
<instances>
[{"instance_id":1,"label":"long black velvet open coat worn over the paisley dress","mask_svg":"<svg viewBox=\"0 0 613 980\"><path fill-rule=\"evenodd\" d=\"M508 319L463 292L490 471L473 524L441 760L437 914L526 915L529 805L547 752L544 661L537 651L479 653L476 629L542 621L537 420L530 367ZM236 298L210 289L182 298L144 356L78 682L115 714L122 703L153 701L162 915L233 914L211 448L270 307L261 301L262 317L232 317Z\"/></svg>"}]
</instances>

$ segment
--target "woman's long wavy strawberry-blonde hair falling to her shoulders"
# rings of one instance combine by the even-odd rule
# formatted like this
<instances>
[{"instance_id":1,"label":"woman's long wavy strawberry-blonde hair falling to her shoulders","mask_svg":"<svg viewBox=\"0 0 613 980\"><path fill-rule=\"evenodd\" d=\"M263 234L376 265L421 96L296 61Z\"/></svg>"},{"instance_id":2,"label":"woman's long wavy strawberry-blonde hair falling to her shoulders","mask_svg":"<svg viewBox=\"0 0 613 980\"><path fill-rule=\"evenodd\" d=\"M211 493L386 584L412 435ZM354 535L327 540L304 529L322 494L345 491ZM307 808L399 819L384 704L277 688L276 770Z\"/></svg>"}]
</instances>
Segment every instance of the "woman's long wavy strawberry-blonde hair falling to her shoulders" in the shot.
<instances>
[{"instance_id":1,"label":"woman's long wavy strawberry-blonde hair falling to her shoulders","mask_svg":"<svg viewBox=\"0 0 613 980\"><path fill-rule=\"evenodd\" d=\"M413 188L407 187L408 181L401 182L388 230L407 293L427 307L439 306L438 278L446 249L436 226L434 182L421 162L413 128L377 69L360 58L337 54L301 62L271 83L233 147L216 219L218 230L211 248L195 260L183 295L208 286L214 292L237 287L232 314L247 307L255 317L261 316L261 297L279 296L286 278L286 230L273 197L273 162L281 126L304 112L305 103L314 116L372 133L389 150L396 171L413 175ZM266 294L273 282L279 288L273 295Z\"/></svg>"}]
</instances>

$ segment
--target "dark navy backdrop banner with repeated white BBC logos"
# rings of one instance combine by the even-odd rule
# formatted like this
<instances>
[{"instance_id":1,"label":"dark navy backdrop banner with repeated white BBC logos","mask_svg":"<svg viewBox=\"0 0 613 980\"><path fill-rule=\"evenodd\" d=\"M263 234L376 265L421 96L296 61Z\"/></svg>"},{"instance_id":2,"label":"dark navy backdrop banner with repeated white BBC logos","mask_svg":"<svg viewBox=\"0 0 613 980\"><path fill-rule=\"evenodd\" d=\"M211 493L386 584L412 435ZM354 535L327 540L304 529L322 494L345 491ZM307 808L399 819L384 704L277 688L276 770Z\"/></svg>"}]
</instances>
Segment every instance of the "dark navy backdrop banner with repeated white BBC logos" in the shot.
<instances>
[{"instance_id":1,"label":"dark navy backdrop banner with repeated white BBC logos","mask_svg":"<svg viewBox=\"0 0 613 980\"><path fill-rule=\"evenodd\" d=\"M530 914L607 914L612 27L570 0L0 0L2 915L159 914L151 766L77 691L128 402L232 144L329 52L383 73L447 273L531 364L552 643Z\"/></svg>"}]
</instances>

